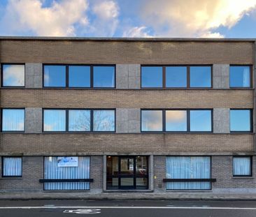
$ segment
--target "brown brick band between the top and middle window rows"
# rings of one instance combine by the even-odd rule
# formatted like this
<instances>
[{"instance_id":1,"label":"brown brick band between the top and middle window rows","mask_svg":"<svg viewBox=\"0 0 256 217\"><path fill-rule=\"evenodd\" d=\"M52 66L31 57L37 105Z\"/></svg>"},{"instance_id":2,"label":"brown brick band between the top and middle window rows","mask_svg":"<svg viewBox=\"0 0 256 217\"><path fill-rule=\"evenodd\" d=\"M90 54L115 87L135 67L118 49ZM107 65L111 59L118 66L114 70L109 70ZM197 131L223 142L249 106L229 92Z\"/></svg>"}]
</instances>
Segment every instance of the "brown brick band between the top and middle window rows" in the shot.
<instances>
[{"instance_id":1,"label":"brown brick band between the top and middle window rows","mask_svg":"<svg viewBox=\"0 0 256 217\"><path fill-rule=\"evenodd\" d=\"M1 107L253 108L253 90L1 89Z\"/></svg>"}]
</instances>

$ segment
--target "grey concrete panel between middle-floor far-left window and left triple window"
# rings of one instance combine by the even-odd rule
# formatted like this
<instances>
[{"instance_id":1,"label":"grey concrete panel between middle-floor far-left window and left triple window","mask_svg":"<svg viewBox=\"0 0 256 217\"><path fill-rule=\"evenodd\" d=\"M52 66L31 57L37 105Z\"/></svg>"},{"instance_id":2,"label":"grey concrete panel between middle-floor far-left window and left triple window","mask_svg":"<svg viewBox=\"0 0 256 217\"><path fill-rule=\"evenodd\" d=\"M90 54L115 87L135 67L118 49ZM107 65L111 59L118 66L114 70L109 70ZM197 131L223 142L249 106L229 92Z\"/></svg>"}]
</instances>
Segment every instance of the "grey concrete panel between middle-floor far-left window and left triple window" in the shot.
<instances>
[{"instance_id":1,"label":"grey concrete panel between middle-floor far-left window and left triple window","mask_svg":"<svg viewBox=\"0 0 256 217\"><path fill-rule=\"evenodd\" d=\"M25 109L25 133L42 133L42 109L40 107Z\"/></svg>"}]
</instances>

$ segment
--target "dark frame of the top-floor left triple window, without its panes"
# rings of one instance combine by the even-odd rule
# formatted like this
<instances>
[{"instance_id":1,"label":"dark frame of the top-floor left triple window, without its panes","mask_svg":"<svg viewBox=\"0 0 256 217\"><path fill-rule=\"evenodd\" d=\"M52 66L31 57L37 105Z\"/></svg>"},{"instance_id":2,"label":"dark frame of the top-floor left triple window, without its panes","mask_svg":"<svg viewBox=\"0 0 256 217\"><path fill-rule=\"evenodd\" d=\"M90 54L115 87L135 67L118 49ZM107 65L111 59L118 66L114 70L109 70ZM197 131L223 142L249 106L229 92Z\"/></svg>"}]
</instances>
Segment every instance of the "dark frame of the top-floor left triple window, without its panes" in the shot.
<instances>
[{"instance_id":1,"label":"dark frame of the top-floor left triple window, without its panes","mask_svg":"<svg viewBox=\"0 0 256 217\"><path fill-rule=\"evenodd\" d=\"M45 66L65 66L66 68L66 83L63 87L46 87L44 78L45 78ZM69 66L89 66L90 67L90 87L69 87ZM94 66L112 66L114 67L114 78L115 83L114 87L93 87L94 82ZM116 89L116 65L115 64L62 64L62 63L43 63L43 88L44 89Z\"/></svg>"}]
</instances>

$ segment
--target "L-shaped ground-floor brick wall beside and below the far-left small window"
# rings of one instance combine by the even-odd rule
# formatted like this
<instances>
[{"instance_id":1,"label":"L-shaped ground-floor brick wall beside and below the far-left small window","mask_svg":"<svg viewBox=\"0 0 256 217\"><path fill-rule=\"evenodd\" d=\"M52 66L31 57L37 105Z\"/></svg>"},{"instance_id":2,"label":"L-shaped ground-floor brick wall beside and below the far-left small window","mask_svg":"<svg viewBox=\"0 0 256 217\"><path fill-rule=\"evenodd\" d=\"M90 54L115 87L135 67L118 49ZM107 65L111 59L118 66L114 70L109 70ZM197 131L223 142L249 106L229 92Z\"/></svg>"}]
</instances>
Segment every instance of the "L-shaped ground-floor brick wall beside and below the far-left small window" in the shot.
<instances>
[{"instance_id":1,"label":"L-shaped ground-floor brick wall beside and below the far-left small window","mask_svg":"<svg viewBox=\"0 0 256 217\"><path fill-rule=\"evenodd\" d=\"M0 179L0 192L43 191L39 179L43 179L43 156L23 156L22 178Z\"/></svg>"}]
</instances>

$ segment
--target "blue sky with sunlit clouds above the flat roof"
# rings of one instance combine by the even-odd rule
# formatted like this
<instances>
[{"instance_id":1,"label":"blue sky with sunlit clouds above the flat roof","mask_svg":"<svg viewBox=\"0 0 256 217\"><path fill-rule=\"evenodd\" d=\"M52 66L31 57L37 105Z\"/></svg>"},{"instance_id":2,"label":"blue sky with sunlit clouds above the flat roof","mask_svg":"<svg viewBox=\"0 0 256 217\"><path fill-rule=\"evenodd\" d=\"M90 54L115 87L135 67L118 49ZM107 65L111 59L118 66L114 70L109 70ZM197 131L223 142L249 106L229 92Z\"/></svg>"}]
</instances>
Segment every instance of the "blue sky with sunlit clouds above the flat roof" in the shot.
<instances>
[{"instance_id":1,"label":"blue sky with sunlit clouds above the flat roof","mask_svg":"<svg viewBox=\"0 0 256 217\"><path fill-rule=\"evenodd\" d=\"M256 0L0 0L0 36L256 38Z\"/></svg>"}]
</instances>

